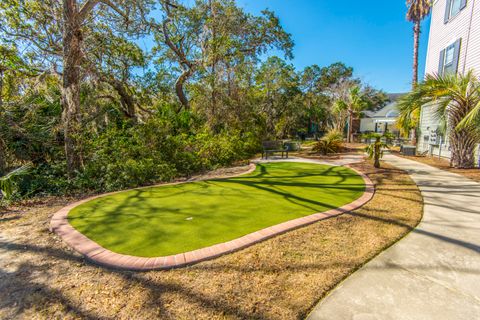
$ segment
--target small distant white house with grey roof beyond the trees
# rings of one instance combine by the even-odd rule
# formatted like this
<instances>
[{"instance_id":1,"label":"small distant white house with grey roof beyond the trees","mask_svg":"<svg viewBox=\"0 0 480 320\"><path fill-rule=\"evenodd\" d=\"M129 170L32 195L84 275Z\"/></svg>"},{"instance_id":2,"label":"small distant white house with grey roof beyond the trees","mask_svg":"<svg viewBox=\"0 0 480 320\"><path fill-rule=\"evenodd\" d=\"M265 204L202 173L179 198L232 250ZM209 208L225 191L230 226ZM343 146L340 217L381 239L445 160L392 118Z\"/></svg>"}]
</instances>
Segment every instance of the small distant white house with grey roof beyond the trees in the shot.
<instances>
[{"instance_id":1,"label":"small distant white house with grey roof beyond the trees","mask_svg":"<svg viewBox=\"0 0 480 320\"><path fill-rule=\"evenodd\" d=\"M388 131L398 135L399 131L395 125L398 118L396 102L391 102L378 111L365 111L363 114L364 117L360 119L361 133Z\"/></svg>"}]
</instances>

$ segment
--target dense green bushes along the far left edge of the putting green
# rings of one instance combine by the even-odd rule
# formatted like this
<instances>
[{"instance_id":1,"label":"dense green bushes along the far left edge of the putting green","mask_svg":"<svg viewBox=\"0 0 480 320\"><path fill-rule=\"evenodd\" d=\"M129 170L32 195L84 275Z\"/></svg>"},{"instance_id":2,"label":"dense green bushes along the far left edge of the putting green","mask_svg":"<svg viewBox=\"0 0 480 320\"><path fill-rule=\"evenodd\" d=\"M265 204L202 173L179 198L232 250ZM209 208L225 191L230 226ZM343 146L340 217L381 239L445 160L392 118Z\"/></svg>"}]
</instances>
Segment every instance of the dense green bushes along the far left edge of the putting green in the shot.
<instances>
[{"instance_id":1,"label":"dense green bushes along the far left edge of the putting green","mask_svg":"<svg viewBox=\"0 0 480 320\"><path fill-rule=\"evenodd\" d=\"M37 163L21 178L19 194L109 192L171 181L247 159L260 146L254 133L214 133L189 112L168 109L143 123L117 122L98 133L86 132L82 170L69 178L64 155L57 153L54 158L60 160Z\"/></svg>"}]
</instances>

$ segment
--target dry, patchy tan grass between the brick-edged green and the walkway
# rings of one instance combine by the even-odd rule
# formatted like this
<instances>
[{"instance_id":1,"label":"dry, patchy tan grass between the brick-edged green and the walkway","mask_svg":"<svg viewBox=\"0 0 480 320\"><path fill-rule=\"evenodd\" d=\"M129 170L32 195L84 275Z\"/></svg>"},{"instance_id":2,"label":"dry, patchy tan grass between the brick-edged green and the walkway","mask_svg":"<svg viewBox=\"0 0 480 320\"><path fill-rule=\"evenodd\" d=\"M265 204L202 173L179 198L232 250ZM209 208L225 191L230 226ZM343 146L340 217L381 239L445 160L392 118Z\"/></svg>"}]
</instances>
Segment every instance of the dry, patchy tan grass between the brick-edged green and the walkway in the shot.
<instances>
[{"instance_id":1,"label":"dry, patchy tan grass between the brick-edged green and the walkway","mask_svg":"<svg viewBox=\"0 0 480 320\"><path fill-rule=\"evenodd\" d=\"M12 208L0 215L0 318L301 319L421 219L422 198L404 172L358 168L377 183L361 209L172 271L86 263L48 231L71 199Z\"/></svg>"}]
</instances>

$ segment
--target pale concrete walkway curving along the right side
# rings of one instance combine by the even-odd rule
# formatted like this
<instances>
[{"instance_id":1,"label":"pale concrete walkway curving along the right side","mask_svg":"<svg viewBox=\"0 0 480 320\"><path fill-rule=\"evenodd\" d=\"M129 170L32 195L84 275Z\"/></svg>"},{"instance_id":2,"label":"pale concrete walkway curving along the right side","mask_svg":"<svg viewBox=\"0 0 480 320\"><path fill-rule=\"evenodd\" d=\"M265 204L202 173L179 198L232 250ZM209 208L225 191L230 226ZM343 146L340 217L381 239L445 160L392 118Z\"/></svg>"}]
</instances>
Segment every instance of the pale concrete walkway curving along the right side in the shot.
<instances>
[{"instance_id":1,"label":"pale concrete walkway curving along the right side","mask_svg":"<svg viewBox=\"0 0 480 320\"><path fill-rule=\"evenodd\" d=\"M393 155L385 160L419 186L423 220L308 319L480 319L480 183Z\"/></svg>"}]
</instances>

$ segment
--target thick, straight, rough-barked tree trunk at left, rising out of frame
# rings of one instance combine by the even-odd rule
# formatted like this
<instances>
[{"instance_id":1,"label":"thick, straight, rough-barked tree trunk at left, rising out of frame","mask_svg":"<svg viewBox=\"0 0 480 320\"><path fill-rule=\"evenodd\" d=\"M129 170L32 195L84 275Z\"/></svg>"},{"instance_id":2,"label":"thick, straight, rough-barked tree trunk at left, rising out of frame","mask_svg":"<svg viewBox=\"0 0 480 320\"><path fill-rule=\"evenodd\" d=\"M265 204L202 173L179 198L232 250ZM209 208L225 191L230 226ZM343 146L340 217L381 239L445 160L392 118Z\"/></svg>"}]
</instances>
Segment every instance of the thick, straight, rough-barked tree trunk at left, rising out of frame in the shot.
<instances>
[{"instance_id":1,"label":"thick, straight, rough-barked tree trunk at left, rising out of frame","mask_svg":"<svg viewBox=\"0 0 480 320\"><path fill-rule=\"evenodd\" d=\"M65 156L69 176L82 163L80 148L80 64L82 31L76 0L63 0L62 107Z\"/></svg>"}]
</instances>

